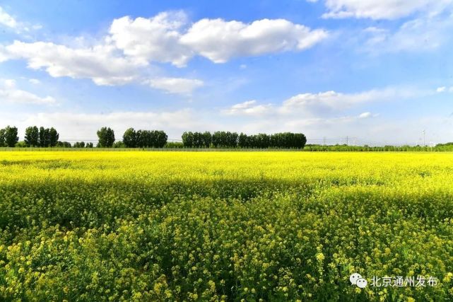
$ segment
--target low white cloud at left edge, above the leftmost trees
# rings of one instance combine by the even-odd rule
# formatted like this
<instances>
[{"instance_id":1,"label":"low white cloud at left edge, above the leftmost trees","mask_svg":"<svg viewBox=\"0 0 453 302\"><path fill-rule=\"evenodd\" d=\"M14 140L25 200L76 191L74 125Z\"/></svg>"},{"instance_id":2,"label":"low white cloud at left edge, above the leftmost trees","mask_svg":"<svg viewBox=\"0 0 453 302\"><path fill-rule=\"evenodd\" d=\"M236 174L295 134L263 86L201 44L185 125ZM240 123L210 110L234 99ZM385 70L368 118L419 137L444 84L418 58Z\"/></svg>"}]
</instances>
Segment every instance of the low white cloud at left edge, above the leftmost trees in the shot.
<instances>
[{"instance_id":1,"label":"low white cloud at left edge, above the leftmost trees","mask_svg":"<svg viewBox=\"0 0 453 302\"><path fill-rule=\"evenodd\" d=\"M27 104L53 104L55 99L46 96L40 97L28 91L16 88L16 81L0 79L0 100L9 103L27 103Z\"/></svg>"}]
</instances>

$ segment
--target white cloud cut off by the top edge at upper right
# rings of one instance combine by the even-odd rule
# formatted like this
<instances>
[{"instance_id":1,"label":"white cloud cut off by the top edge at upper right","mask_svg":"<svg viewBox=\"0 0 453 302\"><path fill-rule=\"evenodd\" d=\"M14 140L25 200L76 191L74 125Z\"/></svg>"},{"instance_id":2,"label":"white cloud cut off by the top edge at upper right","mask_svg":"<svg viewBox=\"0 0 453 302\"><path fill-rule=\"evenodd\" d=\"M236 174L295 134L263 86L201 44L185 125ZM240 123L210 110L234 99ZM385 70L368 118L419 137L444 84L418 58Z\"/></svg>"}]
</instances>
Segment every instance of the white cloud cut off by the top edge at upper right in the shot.
<instances>
[{"instance_id":1,"label":"white cloud cut off by the top edge at upper right","mask_svg":"<svg viewBox=\"0 0 453 302\"><path fill-rule=\"evenodd\" d=\"M432 16L452 4L452 0L326 0L325 6L329 11L323 17L392 20L418 12Z\"/></svg>"}]
</instances>

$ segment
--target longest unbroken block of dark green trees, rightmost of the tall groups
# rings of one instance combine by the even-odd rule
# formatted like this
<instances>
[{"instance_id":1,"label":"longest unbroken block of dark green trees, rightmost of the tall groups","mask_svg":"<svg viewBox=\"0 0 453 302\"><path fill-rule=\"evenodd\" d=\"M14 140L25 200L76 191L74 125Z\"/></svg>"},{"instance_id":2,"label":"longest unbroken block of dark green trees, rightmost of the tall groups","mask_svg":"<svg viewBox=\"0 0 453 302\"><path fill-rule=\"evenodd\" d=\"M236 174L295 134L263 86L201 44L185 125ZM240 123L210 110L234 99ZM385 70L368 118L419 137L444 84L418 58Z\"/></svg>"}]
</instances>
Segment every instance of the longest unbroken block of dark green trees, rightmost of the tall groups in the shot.
<instances>
[{"instance_id":1,"label":"longest unbroken block of dark green trees, rightmost of the tall groups","mask_svg":"<svg viewBox=\"0 0 453 302\"><path fill-rule=\"evenodd\" d=\"M283 132L253 134L218 131L184 132L182 144L187 148L254 148L302 149L307 138L302 133Z\"/></svg>"}]
</instances>

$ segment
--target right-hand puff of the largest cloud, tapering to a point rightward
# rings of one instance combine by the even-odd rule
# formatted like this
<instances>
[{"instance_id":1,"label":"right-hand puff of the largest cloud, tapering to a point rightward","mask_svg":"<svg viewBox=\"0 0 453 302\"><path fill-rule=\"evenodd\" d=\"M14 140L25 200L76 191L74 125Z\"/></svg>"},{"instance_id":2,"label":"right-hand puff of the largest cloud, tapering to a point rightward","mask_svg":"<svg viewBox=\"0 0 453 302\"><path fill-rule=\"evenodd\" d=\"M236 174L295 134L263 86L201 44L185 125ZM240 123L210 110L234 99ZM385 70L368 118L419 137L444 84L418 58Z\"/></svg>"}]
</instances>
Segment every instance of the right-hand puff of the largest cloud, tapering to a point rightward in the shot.
<instances>
[{"instance_id":1,"label":"right-hand puff of the largest cloud, tapering to a point rightward","mask_svg":"<svg viewBox=\"0 0 453 302\"><path fill-rule=\"evenodd\" d=\"M305 50L326 37L325 30L311 30L284 19L262 19L249 24L202 19L180 40L197 54L224 63L233 57Z\"/></svg>"}]
</instances>

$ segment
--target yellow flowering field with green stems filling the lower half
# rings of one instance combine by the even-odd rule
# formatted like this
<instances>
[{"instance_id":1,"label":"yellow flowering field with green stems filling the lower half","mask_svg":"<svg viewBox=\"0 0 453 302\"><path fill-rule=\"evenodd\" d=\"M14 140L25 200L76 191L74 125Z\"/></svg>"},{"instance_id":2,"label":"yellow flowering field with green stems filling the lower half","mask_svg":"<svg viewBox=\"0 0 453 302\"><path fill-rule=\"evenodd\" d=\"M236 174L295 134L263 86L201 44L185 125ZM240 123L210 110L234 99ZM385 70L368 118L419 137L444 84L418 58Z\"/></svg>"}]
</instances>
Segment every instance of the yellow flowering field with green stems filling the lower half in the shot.
<instances>
[{"instance_id":1,"label":"yellow flowering field with green stems filling the lower half","mask_svg":"<svg viewBox=\"0 0 453 302\"><path fill-rule=\"evenodd\" d=\"M451 301L452 223L453 153L5 151L0 300Z\"/></svg>"}]
</instances>

